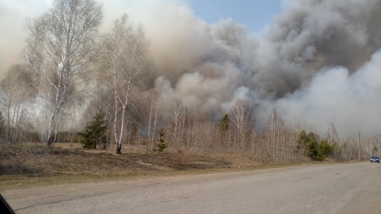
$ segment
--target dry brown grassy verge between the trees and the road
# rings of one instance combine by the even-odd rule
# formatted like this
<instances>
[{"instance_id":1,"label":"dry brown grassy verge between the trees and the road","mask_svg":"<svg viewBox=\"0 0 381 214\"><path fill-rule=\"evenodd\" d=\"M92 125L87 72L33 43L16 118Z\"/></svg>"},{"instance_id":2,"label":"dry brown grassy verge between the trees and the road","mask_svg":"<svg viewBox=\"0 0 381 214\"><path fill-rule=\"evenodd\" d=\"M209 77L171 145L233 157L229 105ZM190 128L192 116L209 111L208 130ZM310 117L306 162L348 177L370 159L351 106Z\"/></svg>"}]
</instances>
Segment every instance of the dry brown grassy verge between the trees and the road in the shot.
<instances>
[{"instance_id":1,"label":"dry brown grassy verge between the trees and the road","mask_svg":"<svg viewBox=\"0 0 381 214\"><path fill-rule=\"evenodd\" d=\"M40 144L0 144L0 190L30 185L94 182L137 176L178 175L296 166L261 165L234 153L93 153Z\"/></svg>"}]
</instances>

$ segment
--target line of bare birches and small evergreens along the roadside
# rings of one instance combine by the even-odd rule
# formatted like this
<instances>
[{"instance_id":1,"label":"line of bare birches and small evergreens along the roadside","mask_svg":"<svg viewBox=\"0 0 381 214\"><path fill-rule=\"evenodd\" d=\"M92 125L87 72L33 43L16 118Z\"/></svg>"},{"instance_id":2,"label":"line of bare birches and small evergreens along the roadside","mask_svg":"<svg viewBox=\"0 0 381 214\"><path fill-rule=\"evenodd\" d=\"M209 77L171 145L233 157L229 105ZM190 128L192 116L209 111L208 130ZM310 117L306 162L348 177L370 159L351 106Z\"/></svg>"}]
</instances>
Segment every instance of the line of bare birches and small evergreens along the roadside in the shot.
<instances>
[{"instance_id":1,"label":"line of bare birches and small evergreens along the roadside","mask_svg":"<svg viewBox=\"0 0 381 214\"><path fill-rule=\"evenodd\" d=\"M2 142L82 143L116 153L123 147L237 153L259 163L380 155L379 137L360 145L353 138L339 140L333 123L318 136L275 109L258 129L245 99L236 99L220 120L188 112L181 100L166 110L143 27L122 14L99 32L102 19L102 5L94 0L58 0L45 14L27 19L22 61L0 82Z\"/></svg>"}]
</instances>

